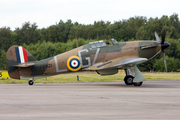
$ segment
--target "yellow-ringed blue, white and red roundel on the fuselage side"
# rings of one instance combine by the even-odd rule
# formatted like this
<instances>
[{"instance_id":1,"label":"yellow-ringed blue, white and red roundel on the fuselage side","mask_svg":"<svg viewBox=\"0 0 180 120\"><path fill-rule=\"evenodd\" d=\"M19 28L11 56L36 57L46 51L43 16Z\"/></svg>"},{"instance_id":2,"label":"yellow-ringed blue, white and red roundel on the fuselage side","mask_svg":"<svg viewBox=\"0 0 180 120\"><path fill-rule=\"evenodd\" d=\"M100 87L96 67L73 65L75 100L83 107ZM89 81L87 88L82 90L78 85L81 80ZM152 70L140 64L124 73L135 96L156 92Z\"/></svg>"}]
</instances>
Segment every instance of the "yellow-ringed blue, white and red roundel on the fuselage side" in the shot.
<instances>
[{"instance_id":1,"label":"yellow-ringed blue, white and red roundel on the fuselage side","mask_svg":"<svg viewBox=\"0 0 180 120\"><path fill-rule=\"evenodd\" d=\"M78 56L72 56L67 60L67 67L71 71L78 71L81 69L80 61Z\"/></svg>"}]
</instances>

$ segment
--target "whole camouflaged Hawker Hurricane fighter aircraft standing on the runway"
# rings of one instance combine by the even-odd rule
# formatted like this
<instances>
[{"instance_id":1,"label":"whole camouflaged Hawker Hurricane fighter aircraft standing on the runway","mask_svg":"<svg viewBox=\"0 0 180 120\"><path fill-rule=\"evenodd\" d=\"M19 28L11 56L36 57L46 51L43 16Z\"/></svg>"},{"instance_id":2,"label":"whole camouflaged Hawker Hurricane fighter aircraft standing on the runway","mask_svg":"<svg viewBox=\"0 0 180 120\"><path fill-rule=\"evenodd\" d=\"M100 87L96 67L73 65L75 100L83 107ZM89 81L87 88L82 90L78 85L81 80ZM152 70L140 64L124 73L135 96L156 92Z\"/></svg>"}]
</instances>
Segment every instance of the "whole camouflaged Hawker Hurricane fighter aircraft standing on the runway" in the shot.
<instances>
[{"instance_id":1,"label":"whole camouflaged Hawker Hurricane fighter aircraft standing on the runway","mask_svg":"<svg viewBox=\"0 0 180 120\"><path fill-rule=\"evenodd\" d=\"M26 79L29 80L29 85L33 85L35 79L57 74L96 71L100 75L112 75L118 73L119 69L124 69L125 84L141 86L145 78L136 65L153 58L160 51L163 52L165 61L164 49L169 46L165 42L165 33L162 41L156 32L155 37L157 41L118 43L111 39L113 45L107 45L103 40L91 42L40 61L25 48L14 45L6 55L8 73L13 79Z\"/></svg>"}]
</instances>

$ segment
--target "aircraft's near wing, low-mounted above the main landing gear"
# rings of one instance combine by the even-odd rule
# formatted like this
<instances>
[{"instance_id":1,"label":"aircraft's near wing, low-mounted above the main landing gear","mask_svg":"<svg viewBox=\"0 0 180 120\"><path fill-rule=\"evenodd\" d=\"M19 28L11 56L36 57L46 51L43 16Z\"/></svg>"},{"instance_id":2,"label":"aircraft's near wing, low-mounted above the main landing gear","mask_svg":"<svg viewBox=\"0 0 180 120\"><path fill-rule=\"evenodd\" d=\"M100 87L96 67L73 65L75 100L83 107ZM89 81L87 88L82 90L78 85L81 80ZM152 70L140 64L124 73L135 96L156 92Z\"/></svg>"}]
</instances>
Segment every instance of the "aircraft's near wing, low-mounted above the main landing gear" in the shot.
<instances>
[{"instance_id":1,"label":"aircraft's near wing, low-mounted above the main landing gear","mask_svg":"<svg viewBox=\"0 0 180 120\"><path fill-rule=\"evenodd\" d=\"M120 60L112 60L112 61L107 61L102 64L98 65L93 65L88 68L88 70L102 70L102 69L109 69L109 68L127 68L127 67L132 67L134 65L143 63L147 61L147 58L126 58L126 59L120 59Z\"/></svg>"}]
</instances>

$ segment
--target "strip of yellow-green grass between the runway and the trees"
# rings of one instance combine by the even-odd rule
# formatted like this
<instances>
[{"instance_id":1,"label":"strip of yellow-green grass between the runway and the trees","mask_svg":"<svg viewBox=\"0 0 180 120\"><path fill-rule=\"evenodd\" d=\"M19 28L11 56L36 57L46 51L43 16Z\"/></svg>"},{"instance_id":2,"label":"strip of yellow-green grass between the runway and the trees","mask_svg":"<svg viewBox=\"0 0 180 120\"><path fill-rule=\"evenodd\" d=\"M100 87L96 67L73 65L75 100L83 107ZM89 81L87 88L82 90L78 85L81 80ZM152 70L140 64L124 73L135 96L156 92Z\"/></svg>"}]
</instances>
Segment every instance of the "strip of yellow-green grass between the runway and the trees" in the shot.
<instances>
[{"instance_id":1,"label":"strip of yellow-green grass between the runway and the trees","mask_svg":"<svg viewBox=\"0 0 180 120\"><path fill-rule=\"evenodd\" d=\"M146 80L180 80L180 73L143 73ZM60 74L48 78L37 79L35 83L73 83L73 82L100 82L100 81L123 81L124 73L115 75L99 76L98 74ZM28 80L16 80L0 78L0 84L27 84Z\"/></svg>"}]
</instances>

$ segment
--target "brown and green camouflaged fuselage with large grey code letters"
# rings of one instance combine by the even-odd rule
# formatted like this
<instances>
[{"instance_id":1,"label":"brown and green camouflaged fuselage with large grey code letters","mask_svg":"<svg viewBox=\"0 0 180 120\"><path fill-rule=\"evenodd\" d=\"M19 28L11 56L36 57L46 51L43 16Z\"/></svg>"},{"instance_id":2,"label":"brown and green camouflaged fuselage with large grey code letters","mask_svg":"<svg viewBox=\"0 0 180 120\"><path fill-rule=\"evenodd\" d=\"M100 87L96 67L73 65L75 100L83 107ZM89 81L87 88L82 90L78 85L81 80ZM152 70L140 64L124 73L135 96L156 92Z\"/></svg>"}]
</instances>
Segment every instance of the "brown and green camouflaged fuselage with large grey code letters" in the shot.
<instances>
[{"instance_id":1,"label":"brown and green camouflaged fuselage with large grey code letters","mask_svg":"<svg viewBox=\"0 0 180 120\"><path fill-rule=\"evenodd\" d=\"M157 41L122 42L115 45L86 44L51 58L34 61L34 66L20 69L20 78L41 78L78 72L88 70L89 67L95 65L108 63L108 61L113 62L126 58L151 59L160 51L161 44Z\"/></svg>"}]
</instances>

